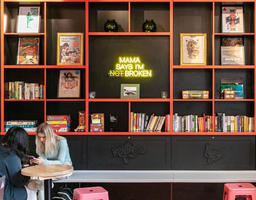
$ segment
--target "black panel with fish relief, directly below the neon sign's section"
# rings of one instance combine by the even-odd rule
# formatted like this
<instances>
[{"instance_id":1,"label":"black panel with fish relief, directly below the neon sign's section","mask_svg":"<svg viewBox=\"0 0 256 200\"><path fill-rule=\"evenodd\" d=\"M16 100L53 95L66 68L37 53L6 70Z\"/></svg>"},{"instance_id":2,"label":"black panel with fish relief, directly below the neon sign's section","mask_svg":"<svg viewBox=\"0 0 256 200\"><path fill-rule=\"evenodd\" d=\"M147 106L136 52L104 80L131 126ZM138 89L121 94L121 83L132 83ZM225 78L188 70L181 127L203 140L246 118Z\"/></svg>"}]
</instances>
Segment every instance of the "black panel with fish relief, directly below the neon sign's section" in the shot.
<instances>
[{"instance_id":1,"label":"black panel with fish relief, directly below the neon sign's section","mask_svg":"<svg viewBox=\"0 0 256 200\"><path fill-rule=\"evenodd\" d=\"M88 136L89 170L170 170L171 136Z\"/></svg>"}]
</instances>

